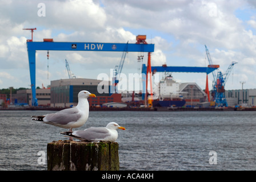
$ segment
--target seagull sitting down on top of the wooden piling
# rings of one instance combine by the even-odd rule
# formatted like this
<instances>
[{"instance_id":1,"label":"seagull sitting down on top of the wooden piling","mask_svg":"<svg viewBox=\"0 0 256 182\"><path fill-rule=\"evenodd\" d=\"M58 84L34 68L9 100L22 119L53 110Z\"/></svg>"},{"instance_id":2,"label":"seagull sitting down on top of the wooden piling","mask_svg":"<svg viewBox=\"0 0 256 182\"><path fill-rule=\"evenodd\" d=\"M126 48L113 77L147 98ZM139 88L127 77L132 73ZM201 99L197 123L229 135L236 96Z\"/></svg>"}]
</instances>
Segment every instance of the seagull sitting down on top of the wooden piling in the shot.
<instances>
[{"instance_id":1,"label":"seagull sitting down on top of the wooden piling","mask_svg":"<svg viewBox=\"0 0 256 182\"><path fill-rule=\"evenodd\" d=\"M118 123L110 122L106 127L89 127L85 130L67 131L61 132L65 137L73 137L83 141L103 141L114 142L117 140L117 129L125 130L124 127L118 125Z\"/></svg>"}]
</instances>

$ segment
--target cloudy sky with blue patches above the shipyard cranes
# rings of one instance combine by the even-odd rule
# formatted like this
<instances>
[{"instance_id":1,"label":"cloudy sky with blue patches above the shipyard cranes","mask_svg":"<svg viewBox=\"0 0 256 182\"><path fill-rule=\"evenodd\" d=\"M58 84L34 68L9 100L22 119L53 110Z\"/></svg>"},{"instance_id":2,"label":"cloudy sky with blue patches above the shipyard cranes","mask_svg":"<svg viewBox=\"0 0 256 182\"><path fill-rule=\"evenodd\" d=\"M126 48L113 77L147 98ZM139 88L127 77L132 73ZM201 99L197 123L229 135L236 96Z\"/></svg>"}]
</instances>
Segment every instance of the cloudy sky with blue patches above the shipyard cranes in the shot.
<instances>
[{"instance_id":1,"label":"cloudy sky with blue patches above the shipyard cranes","mask_svg":"<svg viewBox=\"0 0 256 182\"><path fill-rule=\"evenodd\" d=\"M26 40L34 42L135 43L146 35L155 45L153 66L207 67L205 45L218 71L236 61L226 89L256 88L256 1L254 0L0 0L0 89L30 88ZM141 73L141 53L128 52L122 73ZM147 53L143 53L147 63ZM69 78L110 76L122 52L37 51L36 86ZM205 73L172 73L177 82L205 89ZM160 73L159 78L163 77ZM213 76L209 75L209 88Z\"/></svg>"}]
</instances>

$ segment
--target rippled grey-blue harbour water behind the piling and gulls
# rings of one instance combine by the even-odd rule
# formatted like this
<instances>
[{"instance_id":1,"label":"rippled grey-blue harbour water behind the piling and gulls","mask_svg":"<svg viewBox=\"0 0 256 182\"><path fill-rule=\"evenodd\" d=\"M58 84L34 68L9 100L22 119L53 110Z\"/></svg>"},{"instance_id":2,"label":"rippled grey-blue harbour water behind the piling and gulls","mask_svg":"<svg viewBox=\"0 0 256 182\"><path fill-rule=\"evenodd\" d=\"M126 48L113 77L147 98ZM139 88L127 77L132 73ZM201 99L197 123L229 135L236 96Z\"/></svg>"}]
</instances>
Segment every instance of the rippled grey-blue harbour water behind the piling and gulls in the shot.
<instances>
[{"instance_id":1,"label":"rippled grey-blue harbour water behind the piling and gulls","mask_svg":"<svg viewBox=\"0 0 256 182\"><path fill-rule=\"evenodd\" d=\"M0 111L0 170L47 170L38 151L66 139L59 127L31 121L52 111ZM254 111L91 111L79 129L114 121L120 170L255 170ZM209 164L210 151L217 164ZM47 160L46 160L47 161Z\"/></svg>"}]
</instances>

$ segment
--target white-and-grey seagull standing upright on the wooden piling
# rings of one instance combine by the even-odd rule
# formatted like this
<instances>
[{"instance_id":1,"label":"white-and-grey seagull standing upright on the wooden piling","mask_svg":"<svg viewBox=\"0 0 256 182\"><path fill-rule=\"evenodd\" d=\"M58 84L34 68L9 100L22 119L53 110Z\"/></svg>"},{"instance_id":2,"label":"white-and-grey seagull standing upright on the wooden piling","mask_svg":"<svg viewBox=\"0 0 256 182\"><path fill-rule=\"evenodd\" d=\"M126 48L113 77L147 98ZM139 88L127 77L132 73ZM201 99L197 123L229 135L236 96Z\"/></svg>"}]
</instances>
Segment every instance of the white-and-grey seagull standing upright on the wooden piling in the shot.
<instances>
[{"instance_id":1,"label":"white-and-grey seagull standing upright on the wooden piling","mask_svg":"<svg viewBox=\"0 0 256 182\"><path fill-rule=\"evenodd\" d=\"M57 113L46 115L32 116L34 121L41 121L43 123L69 129L71 132L73 128L77 128L86 123L89 117L89 102L88 97L96 97L86 90L78 93L78 104L69 109L63 109ZM71 139L71 138L70 138Z\"/></svg>"}]
</instances>

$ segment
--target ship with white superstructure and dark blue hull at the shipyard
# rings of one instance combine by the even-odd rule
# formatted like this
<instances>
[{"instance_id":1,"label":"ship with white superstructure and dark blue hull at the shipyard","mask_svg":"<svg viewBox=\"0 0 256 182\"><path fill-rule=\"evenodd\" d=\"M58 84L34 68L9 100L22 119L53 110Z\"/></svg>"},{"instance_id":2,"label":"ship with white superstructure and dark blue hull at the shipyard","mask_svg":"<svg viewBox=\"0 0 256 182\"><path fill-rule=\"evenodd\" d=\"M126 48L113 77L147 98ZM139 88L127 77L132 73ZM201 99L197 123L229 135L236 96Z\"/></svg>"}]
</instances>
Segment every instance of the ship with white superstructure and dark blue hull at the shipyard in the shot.
<instances>
[{"instance_id":1,"label":"ship with white superstructure and dark blue hull at the shipyard","mask_svg":"<svg viewBox=\"0 0 256 182\"><path fill-rule=\"evenodd\" d=\"M182 107L186 104L183 96L179 94L179 83L173 76L166 75L159 81L158 98L153 100L153 107Z\"/></svg>"}]
</instances>

